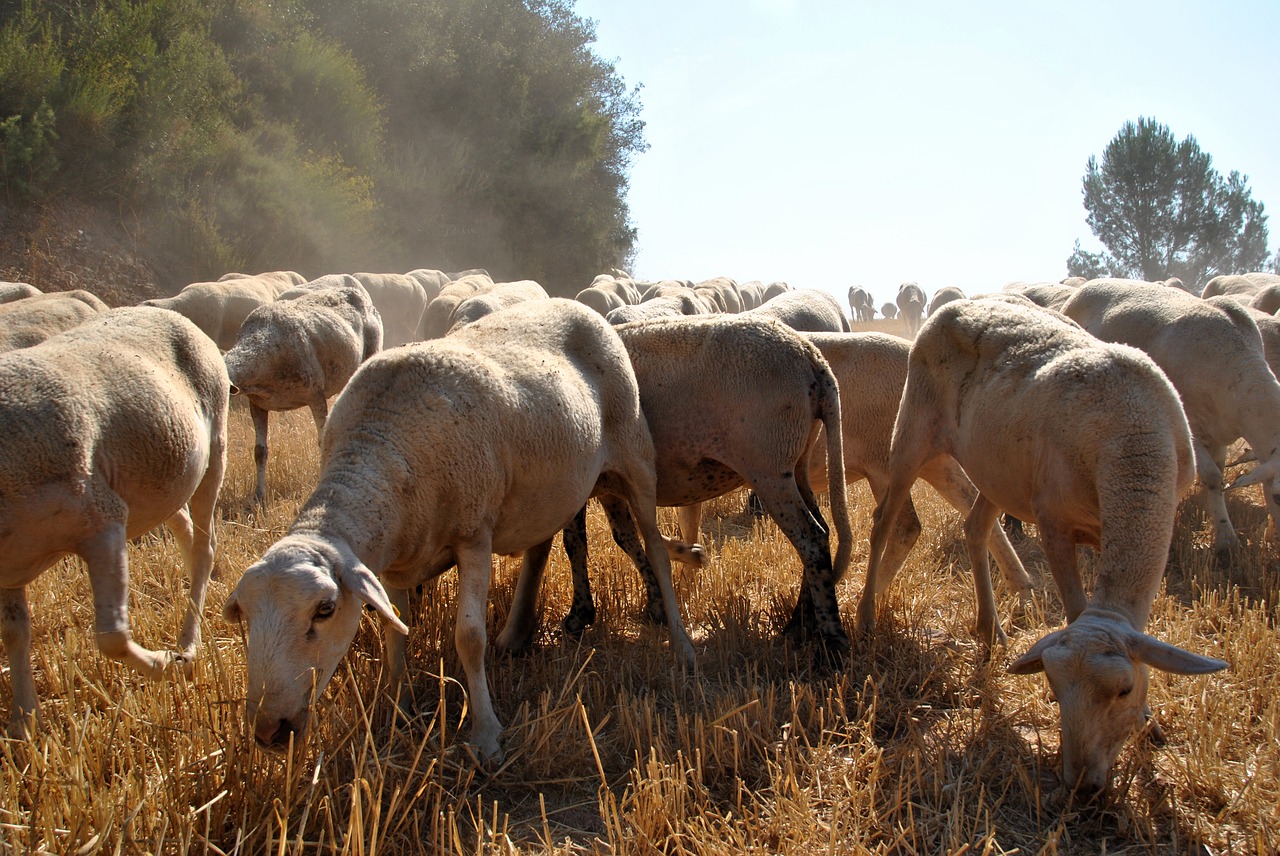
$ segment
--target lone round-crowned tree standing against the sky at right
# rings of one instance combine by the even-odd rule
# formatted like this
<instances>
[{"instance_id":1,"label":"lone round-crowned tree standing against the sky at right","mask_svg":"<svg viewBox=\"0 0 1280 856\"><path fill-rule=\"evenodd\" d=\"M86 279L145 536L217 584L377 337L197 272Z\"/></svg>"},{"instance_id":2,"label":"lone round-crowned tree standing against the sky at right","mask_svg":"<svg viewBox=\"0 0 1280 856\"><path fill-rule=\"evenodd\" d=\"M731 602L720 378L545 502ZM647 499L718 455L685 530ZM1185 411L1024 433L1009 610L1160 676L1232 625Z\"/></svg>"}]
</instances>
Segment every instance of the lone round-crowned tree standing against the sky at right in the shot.
<instances>
[{"instance_id":1,"label":"lone round-crowned tree standing against the sky at right","mask_svg":"<svg viewBox=\"0 0 1280 856\"><path fill-rule=\"evenodd\" d=\"M1258 270L1267 258L1267 216L1252 198L1248 177L1233 171L1224 179L1194 137L1176 142L1155 119L1126 122L1101 162L1089 157L1083 194L1087 221L1106 253L1089 253L1076 242L1069 270L1180 276L1190 284Z\"/></svg>"}]
</instances>

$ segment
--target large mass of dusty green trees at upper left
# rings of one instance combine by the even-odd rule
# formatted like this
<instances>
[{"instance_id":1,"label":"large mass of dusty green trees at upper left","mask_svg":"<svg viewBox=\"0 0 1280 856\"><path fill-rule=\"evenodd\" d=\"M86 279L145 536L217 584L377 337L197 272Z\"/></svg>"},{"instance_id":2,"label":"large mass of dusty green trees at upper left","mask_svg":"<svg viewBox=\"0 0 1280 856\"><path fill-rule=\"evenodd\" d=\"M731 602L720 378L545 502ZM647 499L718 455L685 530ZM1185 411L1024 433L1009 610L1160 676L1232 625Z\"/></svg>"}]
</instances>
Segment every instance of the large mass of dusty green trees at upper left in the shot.
<instances>
[{"instance_id":1,"label":"large mass of dusty green trees at upper left","mask_svg":"<svg viewBox=\"0 0 1280 856\"><path fill-rule=\"evenodd\" d=\"M626 265L636 91L572 0L0 0L9 205L113 201L175 279Z\"/></svg>"}]
</instances>

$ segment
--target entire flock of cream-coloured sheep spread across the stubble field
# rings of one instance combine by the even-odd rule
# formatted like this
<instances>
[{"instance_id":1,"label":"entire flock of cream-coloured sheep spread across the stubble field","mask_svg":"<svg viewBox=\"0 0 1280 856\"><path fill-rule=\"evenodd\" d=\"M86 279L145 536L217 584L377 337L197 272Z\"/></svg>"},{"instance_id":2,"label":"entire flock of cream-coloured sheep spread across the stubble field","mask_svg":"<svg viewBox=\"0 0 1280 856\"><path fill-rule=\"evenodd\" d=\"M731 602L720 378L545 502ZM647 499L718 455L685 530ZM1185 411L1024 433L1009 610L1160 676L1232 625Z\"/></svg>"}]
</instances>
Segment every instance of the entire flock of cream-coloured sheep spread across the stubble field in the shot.
<instances>
[{"instance_id":1,"label":"entire flock of cream-coloured sheep spread across the stubble field","mask_svg":"<svg viewBox=\"0 0 1280 856\"><path fill-rule=\"evenodd\" d=\"M1228 550L1236 536L1222 471L1243 438L1257 466L1231 486L1262 484L1280 522L1280 320L1270 315L1280 276L1217 278L1204 297L1180 285L1012 283L974 298L942 289L927 306L908 283L896 303L908 340L850 331L824 292L723 278L602 275L567 301L484 271L311 281L274 271L116 310L87 292L0 284L9 732L29 733L38 708L26 586L64 555L87 564L106 656L151 677L192 662L228 400L241 394L255 425L256 502L266 498L269 412L310 407L321 444L315 490L223 605L246 628L247 717L262 747L287 749L306 732L366 606L402 679L408 592L457 567L471 743L500 757L485 676L493 554L524 554L497 647L532 640L558 532L573 572L564 628L580 633L595 618L591 498L681 663L695 649L671 563L707 563L700 504L742 485L804 568L783 632L847 654L836 600L852 555L846 485L867 479L878 503L855 617L870 633L877 595L920 534L910 489L924 479L965 516L988 645L1005 641L988 551L1011 589L1030 587L997 518L1036 523L1068 624L1010 668L1044 672L1061 708L1065 781L1097 792L1149 718L1148 667L1228 665L1143 632L1192 482L1203 487L1215 548ZM874 315L860 288L849 307L855 321ZM835 555L820 491L831 496ZM680 539L659 534L658 507L678 508ZM191 575L177 651L129 635L125 546L159 525ZM1092 592L1078 544L1098 550Z\"/></svg>"}]
</instances>

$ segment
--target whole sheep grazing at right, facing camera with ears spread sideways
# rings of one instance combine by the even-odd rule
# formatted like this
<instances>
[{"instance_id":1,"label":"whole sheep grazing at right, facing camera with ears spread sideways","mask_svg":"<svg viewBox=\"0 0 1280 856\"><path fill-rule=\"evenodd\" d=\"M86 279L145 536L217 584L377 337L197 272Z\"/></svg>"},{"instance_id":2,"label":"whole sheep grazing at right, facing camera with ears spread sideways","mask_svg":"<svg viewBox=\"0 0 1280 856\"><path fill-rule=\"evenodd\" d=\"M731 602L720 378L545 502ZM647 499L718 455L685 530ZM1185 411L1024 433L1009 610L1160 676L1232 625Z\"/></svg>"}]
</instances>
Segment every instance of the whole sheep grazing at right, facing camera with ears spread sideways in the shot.
<instances>
[{"instance_id":1,"label":"whole sheep grazing at right, facing camera with ears spread sideways","mask_svg":"<svg viewBox=\"0 0 1280 856\"><path fill-rule=\"evenodd\" d=\"M888 537L911 482L940 454L952 456L979 491L965 539L988 644L1002 633L987 535L1001 508L1039 526L1068 626L1009 669L1044 672L1061 710L1064 782L1096 793L1144 718L1148 665L1179 674L1228 665L1143 632L1178 502L1194 475L1178 393L1147 354L1048 312L991 299L942 307L911 347L890 481L872 525L860 631L876 623ZM1089 596L1076 543L1100 550Z\"/></svg>"}]
</instances>

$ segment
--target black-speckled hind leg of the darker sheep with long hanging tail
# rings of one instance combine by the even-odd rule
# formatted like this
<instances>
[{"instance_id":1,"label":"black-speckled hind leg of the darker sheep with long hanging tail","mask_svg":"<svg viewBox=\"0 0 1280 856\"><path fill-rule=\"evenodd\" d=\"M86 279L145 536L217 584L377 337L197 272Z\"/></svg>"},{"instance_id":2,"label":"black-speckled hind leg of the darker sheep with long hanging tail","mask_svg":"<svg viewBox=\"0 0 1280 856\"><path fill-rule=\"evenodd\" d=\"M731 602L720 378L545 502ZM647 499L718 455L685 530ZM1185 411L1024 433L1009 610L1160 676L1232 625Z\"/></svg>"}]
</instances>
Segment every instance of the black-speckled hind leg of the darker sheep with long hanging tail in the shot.
<instances>
[{"instance_id":1,"label":"black-speckled hind leg of the darker sheep with long hanging tail","mask_svg":"<svg viewBox=\"0 0 1280 856\"><path fill-rule=\"evenodd\" d=\"M849 633L840 623L836 569L831 560L831 537L827 526L805 505L794 479L759 480L751 487L759 494L769 517L791 541L804 566L803 587L808 589L809 600L797 594L796 608L782 630L783 636L796 638L817 632L828 650L837 654L847 653Z\"/></svg>"}]
</instances>

